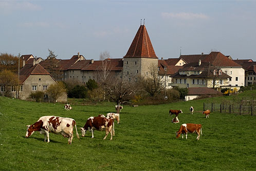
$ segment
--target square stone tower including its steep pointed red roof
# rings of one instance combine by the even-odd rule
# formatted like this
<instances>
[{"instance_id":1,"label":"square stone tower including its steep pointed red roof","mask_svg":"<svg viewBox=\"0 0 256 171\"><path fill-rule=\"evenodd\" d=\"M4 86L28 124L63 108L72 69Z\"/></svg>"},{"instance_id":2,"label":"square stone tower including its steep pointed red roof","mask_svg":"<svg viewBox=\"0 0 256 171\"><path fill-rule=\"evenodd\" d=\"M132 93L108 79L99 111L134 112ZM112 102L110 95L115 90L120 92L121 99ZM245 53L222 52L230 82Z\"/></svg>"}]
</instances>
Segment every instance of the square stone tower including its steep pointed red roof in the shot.
<instances>
[{"instance_id":1,"label":"square stone tower including its steep pointed red roof","mask_svg":"<svg viewBox=\"0 0 256 171\"><path fill-rule=\"evenodd\" d=\"M140 25L129 50L123 56L123 79L137 82L141 77L148 77L152 64L157 66L158 58L145 25Z\"/></svg>"}]
</instances>

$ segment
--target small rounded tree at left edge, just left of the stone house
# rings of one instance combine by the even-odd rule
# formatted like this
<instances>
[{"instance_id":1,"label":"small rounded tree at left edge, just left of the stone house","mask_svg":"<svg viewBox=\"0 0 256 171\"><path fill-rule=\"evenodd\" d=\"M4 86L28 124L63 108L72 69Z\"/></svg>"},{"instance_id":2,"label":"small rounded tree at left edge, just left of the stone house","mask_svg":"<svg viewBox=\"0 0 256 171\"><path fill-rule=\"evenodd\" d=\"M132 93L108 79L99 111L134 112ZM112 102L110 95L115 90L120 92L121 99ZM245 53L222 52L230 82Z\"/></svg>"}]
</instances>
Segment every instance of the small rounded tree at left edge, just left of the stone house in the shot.
<instances>
[{"instance_id":1,"label":"small rounded tree at left edge, just left of the stone house","mask_svg":"<svg viewBox=\"0 0 256 171\"><path fill-rule=\"evenodd\" d=\"M0 84L3 84L5 87L5 91L3 92L3 96L11 97L11 86L18 85L18 77L12 71L4 69L0 72Z\"/></svg>"}]
</instances>

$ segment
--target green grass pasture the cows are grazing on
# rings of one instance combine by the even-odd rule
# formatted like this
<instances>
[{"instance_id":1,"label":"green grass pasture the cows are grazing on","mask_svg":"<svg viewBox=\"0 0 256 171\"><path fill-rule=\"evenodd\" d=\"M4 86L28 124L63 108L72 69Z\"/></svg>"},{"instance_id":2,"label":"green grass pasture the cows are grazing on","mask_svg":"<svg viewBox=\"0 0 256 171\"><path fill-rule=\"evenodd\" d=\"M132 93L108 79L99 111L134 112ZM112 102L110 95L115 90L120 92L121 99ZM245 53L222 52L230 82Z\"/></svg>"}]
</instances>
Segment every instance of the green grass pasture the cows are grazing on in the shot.
<instances>
[{"instance_id":1,"label":"green grass pasture the cows are grazing on","mask_svg":"<svg viewBox=\"0 0 256 171\"><path fill-rule=\"evenodd\" d=\"M25 138L26 125L54 115L73 118L83 127L90 116L114 112L114 104L76 105L66 111L63 104L0 97L0 170L255 170L255 116L214 112L206 119L204 101L210 99L124 106L113 141L110 135L103 140L103 131L95 131L94 139L91 132L81 137L79 129L80 140L74 136L69 145L61 135L50 134L49 143L39 132ZM169 109L182 109L180 123L171 123ZM200 140L196 134L176 139L183 123L202 124Z\"/></svg>"}]
</instances>

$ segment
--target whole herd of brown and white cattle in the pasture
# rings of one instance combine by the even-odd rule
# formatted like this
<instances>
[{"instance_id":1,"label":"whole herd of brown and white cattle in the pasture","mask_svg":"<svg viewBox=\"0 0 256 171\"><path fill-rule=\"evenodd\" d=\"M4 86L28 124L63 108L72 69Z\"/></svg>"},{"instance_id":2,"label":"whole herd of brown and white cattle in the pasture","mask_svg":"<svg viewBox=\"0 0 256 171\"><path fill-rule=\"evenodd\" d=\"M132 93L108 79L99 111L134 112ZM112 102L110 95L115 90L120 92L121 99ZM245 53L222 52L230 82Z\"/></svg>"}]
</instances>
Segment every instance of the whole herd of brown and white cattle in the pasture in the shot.
<instances>
[{"instance_id":1,"label":"whole herd of brown and white cattle in the pasture","mask_svg":"<svg viewBox=\"0 0 256 171\"><path fill-rule=\"evenodd\" d=\"M70 104L64 105L65 110L70 110L72 107ZM120 122L120 114L119 112L121 109L123 109L123 106L116 105L115 106L116 113L107 113L106 117L104 115L99 115L98 117L90 117L87 119L85 125L83 127L80 127L82 132L82 137L85 136L86 131L92 132L92 138L94 138L94 130L105 130L105 137L103 140L106 139L107 135L111 134L111 139L113 139L113 136L115 136L115 126L114 126L114 120L117 120L117 123ZM190 107L190 112L193 114L194 107ZM181 110L169 110L169 116L175 115L175 118L173 118L172 123L179 123L178 115L179 113L182 113ZM209 118L210 110L206 110L203 112L203 114L206 115L206 118ZM36 121L32 125L27 125L27 132L26 132L26 138L31 136L35 131L39 131L40 134L44 135L44 141L50 142L49 140L49 132L52 132L53 134L60 134L63 137L68 138L68 143L72 143L73 139L73 129L74 126L76 128L76 136L79 139L78 131L77 131L77 125L76 121L71 118L63 118L63 117L56 117L56 116L44 116L39 118L38 121ZM200 138L200 134L202 134L202 125L201 124L193 124L193 123L187 123L182 124L179 128L179 130L176 132L176 138L179 138L180 134L186 135L187 139L187 133L193 133L196 132L197 134L197 140Z\"/></svg>"}]
</instances>

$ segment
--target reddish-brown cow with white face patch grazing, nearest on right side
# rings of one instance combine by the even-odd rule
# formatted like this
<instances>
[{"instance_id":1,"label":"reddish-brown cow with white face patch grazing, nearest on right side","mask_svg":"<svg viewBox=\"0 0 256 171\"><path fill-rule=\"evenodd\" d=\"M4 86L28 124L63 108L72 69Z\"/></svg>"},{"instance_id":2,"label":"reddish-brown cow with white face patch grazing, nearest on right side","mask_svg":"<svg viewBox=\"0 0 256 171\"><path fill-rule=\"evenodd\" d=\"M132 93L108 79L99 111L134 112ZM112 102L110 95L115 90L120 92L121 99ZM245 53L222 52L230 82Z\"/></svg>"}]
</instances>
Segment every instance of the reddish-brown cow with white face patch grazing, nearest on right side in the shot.
<instances>
[{"instance_id":1,"label":"reddish-brown cow with white face patch grazing, nearest on right side","mask_svg":"<svg viewBox=\"0 0 256 171\"><path fill-rule=\"evenodd\" d=\"M186 139L188 139L188 132L194 133L196 132L197 134L197 140L200 138L200 133L202 134L202 125L201 124L193 124L193 123L188 123L188 124L182 124L179 128L179 130L176 132L176 138L179 138L180 134L186 134Z\"/></svg>"}]
</instances>

